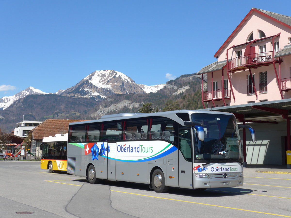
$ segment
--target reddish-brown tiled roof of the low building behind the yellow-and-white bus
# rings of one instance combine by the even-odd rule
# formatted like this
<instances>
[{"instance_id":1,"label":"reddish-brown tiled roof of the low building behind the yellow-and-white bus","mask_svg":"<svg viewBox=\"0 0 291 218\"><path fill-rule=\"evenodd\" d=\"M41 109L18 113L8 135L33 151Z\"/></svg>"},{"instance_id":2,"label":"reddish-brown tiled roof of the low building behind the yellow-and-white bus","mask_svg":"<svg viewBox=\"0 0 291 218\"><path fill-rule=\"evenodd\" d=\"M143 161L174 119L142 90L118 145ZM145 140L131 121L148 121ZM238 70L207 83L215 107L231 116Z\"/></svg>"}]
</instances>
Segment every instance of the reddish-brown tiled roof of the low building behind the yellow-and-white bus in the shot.
<instances>
[{"instance_id":1,"label":"reddish-brown tiled roof of the low building behind the yellow-and-white bus","mask_svg":"<svg viewBox=\"0 0 291 218\"><path fill-rule=\"evenodd\" d=\"M42 140L43 137L54 136L56 134L68 133L69 123L86 121L75 119L46 119L41 124L29 131L30 140Z\"/></svg>"}]
</instances>

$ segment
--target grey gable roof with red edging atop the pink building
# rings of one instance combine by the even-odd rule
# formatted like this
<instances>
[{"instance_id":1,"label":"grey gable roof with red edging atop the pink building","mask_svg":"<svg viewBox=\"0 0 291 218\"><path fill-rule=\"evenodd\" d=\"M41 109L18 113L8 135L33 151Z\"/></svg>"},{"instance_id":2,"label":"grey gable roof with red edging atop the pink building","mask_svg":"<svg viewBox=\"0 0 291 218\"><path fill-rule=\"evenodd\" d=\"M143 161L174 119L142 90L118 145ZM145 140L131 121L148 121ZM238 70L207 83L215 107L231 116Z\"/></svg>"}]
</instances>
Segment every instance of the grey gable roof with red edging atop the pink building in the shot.
<instances>
[{"instance_id":1,"label":"grey gable roof with red edging atop the pink building","mask_svg":"<svg viewBox=\"0 0 291 218\"><path fill-rule=\"evenodd\" d=\"M252 8L250 12L244 17L244 19L239 23L239 25L235 28L235 30L230 34L230 36L227 38L227 40L222 44L222 46L218 49L218 51L214 54L214 57L218 57L218 53L228 44L228 42L231 40L231 38L239 31L239 28L246 22L246 20L254 13L257 12L261 15L264 15L265 17L268 17L279 24L282 24L283 26L286 26L291 29L291 17L286 15L277 14L274 12L258 9L258 8Z\"/></svg>"}]
</instances>

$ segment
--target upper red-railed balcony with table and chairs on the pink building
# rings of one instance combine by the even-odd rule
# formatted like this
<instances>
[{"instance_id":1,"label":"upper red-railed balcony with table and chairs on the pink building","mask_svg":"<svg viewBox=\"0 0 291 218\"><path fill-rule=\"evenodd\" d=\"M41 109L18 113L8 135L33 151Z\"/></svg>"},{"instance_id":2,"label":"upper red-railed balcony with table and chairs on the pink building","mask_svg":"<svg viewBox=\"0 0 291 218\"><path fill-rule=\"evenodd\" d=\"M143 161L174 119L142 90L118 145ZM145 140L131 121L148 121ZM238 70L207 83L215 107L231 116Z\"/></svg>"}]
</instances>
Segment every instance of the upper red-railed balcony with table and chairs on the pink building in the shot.
<instances>
[{"instance_id":1,"label":"upper red-railed balcony with table and chairs on the pink building","mask_svg":"<svg viewBox=\"0 0 291 218\"><path fill-rule=\"evenodd\" d=\"M276 55L278 51L275 51ZM240 56L233 58L228 62L228 71L235 72L239 70L245 70L250 68L257 68L261 66L267 66L279 62L279 58L273 58L273 51L253 53L249 56Z\"/></svg>"}]
</instances>

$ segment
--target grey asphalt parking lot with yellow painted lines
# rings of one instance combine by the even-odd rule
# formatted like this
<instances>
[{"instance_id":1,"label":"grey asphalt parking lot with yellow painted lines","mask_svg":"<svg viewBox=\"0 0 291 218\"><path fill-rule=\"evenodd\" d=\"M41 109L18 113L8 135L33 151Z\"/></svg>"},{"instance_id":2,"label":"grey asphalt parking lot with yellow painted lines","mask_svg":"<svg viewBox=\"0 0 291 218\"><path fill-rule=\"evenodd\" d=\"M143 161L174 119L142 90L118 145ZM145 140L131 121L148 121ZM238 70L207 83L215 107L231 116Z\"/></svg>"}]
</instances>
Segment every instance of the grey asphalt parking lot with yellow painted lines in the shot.
<instances>
[{"instance_id":1,"label":"grey asphalt parking lot with yellow painted lines","mask_svg":"<svg viewBox=\"0 0 291 218\"><path fill-rule=\"evenodd\" d=\"M39 161L0 161L0 184L0 217L291 217L291 170L274 166L245 168L242 187L161 194L144 184L50 174Z\"/></svg>"}]
</instances>

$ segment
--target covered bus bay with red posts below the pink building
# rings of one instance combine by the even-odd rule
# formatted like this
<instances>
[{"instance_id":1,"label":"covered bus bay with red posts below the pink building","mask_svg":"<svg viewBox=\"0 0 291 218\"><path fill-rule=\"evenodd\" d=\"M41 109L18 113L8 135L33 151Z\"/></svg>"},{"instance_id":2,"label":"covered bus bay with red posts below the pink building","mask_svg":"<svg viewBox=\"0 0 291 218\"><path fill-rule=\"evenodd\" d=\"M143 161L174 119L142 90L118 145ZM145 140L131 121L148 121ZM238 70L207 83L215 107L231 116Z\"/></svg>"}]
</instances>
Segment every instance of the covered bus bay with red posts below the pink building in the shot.
<instances>
[{"instance_id":1,"label":"covered bus bay with red posts below the pink building","mask_svg":"<svg viewBox=\"0 0 291 218\"><path fill-rule=\"evenodd\" d=\"M246 129L242 130L241 138L245 167L248 162L250 164L287 164L286 151L291 150L291 99L206 108L202 110L233 113L238 122L250 125L255 129L256 142L254 144L252 144L248 134L246 134ZM258 145L262 144L265 147L258 147ZM253 145L253 149L249 150L251 145ZM291 164L287 164L287 167L291 168Z\"/></svg>"}]
</instances>

